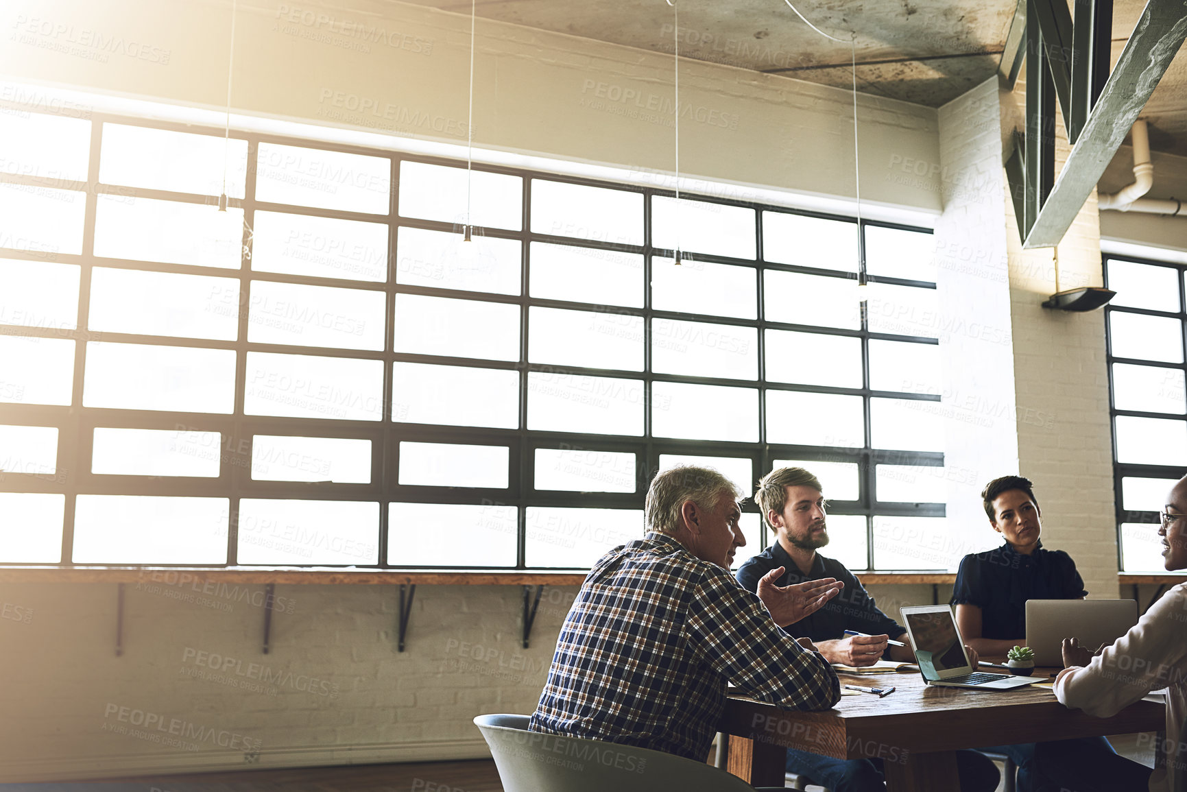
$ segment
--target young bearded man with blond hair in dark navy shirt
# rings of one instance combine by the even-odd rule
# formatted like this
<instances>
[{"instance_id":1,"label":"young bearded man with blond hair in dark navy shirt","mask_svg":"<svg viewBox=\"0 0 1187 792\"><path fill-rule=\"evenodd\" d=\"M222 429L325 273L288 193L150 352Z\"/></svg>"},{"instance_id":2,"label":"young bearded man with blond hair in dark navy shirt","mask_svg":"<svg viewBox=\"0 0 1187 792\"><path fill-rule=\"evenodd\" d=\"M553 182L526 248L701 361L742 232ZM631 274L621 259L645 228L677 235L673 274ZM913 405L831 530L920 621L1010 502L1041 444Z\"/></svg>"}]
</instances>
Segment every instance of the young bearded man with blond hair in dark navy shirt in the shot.
<instances>
[{"instance_id":1,"label":"young bearded man with blond hair in dark navy shirt","mask_svg":"<svg viewBox=\"0 0 1187 792\"><path fill-rule=\"evenodd\" d=\"M830 663L863 666L887 657L914 663L915 653L907 631L878 610L853 574L833 558L817 552L829 544L829 526L820 481L804 468L780 468L758 482L754 496L767 524L775 532L775 544L749 559L737 571L738 582L750 591L760 581L777 576L777 585L836 578L845 587L815 613L787 625L783 631L796 639L810 639ZM852 629L865 635L846 636ZM894 639L906 646L890 646ZM967 647L966 647L967 648ZM976 666L977 653L969 650ZM976 750L957 753L960 788L991 792L1001 777L994 762ZM884 790L881 760L832 759L807 750L787 750L787 772L806 775L832 792L875 792Z\"/></svg>"}]
</instances>

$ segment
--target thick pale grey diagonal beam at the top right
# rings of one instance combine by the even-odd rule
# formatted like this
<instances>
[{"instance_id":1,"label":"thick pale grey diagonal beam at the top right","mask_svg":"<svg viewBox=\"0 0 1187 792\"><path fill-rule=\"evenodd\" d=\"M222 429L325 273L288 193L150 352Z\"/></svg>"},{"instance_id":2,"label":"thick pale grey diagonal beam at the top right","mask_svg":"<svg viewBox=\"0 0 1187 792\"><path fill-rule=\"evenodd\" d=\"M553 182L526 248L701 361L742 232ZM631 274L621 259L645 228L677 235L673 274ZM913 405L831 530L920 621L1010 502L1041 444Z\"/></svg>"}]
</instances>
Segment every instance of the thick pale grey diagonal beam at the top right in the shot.
<instances>
[{"instance_id":1,"label":"thick pale grey diagonal beam at the top right","mask_svg":"<svg viewBox=\"0 0 1187 792\"><path fill-rule=\"evenodd\" d=\"M1022 247L1050 247L1064 237L1185 38L1183 1L1149 0Z\"/></svg>"}]
</instances>

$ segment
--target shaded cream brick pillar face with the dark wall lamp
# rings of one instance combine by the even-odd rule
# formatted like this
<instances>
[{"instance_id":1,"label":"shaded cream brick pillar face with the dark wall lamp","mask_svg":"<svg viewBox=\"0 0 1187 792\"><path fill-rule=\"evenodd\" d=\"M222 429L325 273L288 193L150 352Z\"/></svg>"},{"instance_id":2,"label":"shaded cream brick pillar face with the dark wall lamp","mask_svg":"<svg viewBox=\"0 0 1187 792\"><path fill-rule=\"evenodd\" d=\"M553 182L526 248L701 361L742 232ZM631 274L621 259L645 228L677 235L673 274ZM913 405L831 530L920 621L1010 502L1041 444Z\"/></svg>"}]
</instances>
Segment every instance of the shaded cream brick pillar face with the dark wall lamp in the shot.
<instances>
[{"instance_id":1,"label":"shaded cream brick pillar face with the dark wall lamp","mask_svg":"<svg viewBox=\"0 0 1187 792\"><path fill-rule=\"evenodd\" d=\"M1003 91L1005 114L1021 96ZM1056 172L1068 152L1056 129ZM1117 596L1112 433L1104 312L1068 313L1041 306L1059 289L1099 286L1100 224L1096 192L1058 248L1022 249L1013 203L1004 199L1009 242L1014 378L1020 416L1018 467L1035 482L1043 545L1066 550L1092 596ZM1128 595L1126 595L1128 596Z\"/></svg>"}]
</instances>

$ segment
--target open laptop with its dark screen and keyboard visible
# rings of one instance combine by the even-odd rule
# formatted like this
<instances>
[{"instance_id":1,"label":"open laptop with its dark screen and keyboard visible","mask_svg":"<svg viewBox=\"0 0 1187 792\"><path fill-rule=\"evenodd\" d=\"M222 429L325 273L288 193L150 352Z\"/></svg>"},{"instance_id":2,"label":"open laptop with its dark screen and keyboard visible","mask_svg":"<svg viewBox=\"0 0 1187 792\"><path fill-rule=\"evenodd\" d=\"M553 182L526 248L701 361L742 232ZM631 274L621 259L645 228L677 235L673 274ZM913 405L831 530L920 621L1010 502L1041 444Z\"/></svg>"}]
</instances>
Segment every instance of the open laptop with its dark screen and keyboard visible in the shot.
<instances>
[{"instance_id":1,"label":"open laptop with its dark screen and keyboard visible","mask_svg":"<svg viewBox=\"0 0 1187 792\"><path fill-rule=\"evenodd\" d=\"M928 685L1013 690L1039 682L1008 673L973 671L957 629L957 620L952 616L952 606L913 606L902 608L901 613L910 644L915 647L919 672Z\"/></svg>"}]
</instances>

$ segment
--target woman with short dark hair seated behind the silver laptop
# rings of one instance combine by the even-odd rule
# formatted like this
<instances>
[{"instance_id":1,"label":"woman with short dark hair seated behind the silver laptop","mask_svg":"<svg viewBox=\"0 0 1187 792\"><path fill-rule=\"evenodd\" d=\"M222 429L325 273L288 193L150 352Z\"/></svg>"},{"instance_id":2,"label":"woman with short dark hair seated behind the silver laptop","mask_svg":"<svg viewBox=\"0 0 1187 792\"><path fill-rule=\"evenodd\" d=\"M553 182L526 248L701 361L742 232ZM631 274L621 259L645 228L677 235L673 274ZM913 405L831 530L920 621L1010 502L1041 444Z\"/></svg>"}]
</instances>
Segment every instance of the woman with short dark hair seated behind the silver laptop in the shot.
<instances>
[{"instance_id":1,"label":"woman with short dark hair seated behind the silver laptop","mask_svg":"<svg viewBox=\"0 0 1187 792\"><path fill-rule=\"evenodd\" d=\"M982 655L1004 657L1014 646L1026 646L1027 600L1083 600L1088 593L1072 557L1042 546L1042 509L1029 479L995 479L980 496L990 526L1005 544L960 560L951 604L956 606L957 626L969 646ZM1141 790L1145 784L1141 772L1144 768L1118 756L1104 737L983 750L1015 761L1018 792L1072 792L1066 779L1081 771L1106 781L1105 788L1110 790Z\"/></svg>"}]
</instances>

